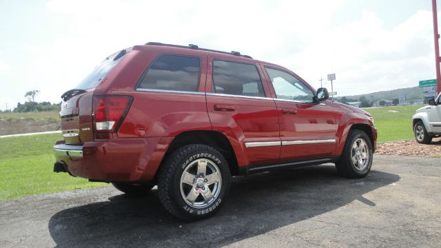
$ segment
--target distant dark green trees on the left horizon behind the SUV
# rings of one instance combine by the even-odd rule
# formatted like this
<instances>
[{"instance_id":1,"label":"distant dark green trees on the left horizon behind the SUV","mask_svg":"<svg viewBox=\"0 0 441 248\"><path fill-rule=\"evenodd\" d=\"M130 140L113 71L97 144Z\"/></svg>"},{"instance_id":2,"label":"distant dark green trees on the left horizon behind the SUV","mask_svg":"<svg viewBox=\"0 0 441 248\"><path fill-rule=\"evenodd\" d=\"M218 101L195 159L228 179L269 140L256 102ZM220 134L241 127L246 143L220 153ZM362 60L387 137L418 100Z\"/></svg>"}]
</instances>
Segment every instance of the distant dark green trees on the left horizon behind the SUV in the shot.
<instances>
[{"instance_id":1,"label":"distant dark green trees on the left horizon behind the SUV","mask_svg":"<svg viewBox=\"0 0 441 248\"><path fill-rule=\"evenodd\" d=\"M50 103L48 101L43 101L41 103L37 103L35 101L35 98L40 93L39 90L31 90L26 92L25 98L28 99L28 101L25 101L25 103L17 103L17 107L14 108L14 110L6 110L4 112L43 112L43 111L53 111L53 110L60 110L61 109L61 102L59 103ZM0 110L0 112L2 112Z\"/></svg>"}]
</instances>

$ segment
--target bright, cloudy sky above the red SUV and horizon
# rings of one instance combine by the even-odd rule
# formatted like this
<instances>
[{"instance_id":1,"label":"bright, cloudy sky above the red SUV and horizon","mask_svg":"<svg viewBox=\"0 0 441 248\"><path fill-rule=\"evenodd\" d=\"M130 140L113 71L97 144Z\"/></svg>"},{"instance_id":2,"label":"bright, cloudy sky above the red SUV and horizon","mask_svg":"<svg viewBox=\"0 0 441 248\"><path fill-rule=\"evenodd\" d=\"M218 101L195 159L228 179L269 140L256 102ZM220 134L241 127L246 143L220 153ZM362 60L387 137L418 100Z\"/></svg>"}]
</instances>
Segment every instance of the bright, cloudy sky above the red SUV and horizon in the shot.
<instances>
[{"instance_id":1,"label":"bright, cloudy sky above the red SUV and horizon","mask_svg":"<svg viewBox=\"0 0 441 248\"><path fill-rule=\"evenodd\" d=\"M0 0L0 110L59 102L105 56L147 41L238 50L338 95L435 78L430 0ZM325 82L326 87L330 83Z\"/></svg>"}]
</instances>

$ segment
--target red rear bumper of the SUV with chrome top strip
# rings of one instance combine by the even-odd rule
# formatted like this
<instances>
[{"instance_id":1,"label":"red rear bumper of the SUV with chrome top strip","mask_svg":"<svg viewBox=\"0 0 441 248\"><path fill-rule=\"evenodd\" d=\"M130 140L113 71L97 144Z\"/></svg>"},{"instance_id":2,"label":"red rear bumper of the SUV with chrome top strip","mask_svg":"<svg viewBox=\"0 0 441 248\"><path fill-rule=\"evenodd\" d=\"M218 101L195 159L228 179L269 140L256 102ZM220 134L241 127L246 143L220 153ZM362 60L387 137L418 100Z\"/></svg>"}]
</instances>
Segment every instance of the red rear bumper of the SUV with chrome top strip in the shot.
<instances>
[{"instance_id":1,"label":"red rear bumper of the SUV with chrome top strip","mask_svg":"<svg viewBox=\"0 0 441 248\"><path fill-rule=\"evenodd\" d=\"M88 142L83 145L54 145L57 160L54 172L63 172L64 167L65 172L72 176L91 180L151 180L143 178L146 169L143 157L148 157L146 147L147 141L143 138ZM156 172L156 168L152 169Z\"/></svg>"}]
</instances>

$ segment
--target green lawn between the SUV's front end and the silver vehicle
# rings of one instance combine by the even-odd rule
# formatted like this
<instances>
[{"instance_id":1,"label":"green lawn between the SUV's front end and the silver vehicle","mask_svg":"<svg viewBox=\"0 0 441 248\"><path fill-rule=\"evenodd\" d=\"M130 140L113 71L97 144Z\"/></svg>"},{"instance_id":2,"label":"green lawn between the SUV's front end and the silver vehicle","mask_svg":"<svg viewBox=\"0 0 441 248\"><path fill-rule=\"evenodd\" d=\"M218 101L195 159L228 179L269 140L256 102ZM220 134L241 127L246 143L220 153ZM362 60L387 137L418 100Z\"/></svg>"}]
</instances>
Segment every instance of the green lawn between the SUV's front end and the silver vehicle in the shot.
<instances>
[{"instance_id":1,"label":"green lawn between the SUV's front end and the silver vehicle","mask_svg":"<svg viewBox=\"0 0 441 248\"><path fill-rule=\"evenodd\" d=\"M424 105L371 107L363 110L372 114L378 130L378 142L412 139L412 116Z\"/></svg>"}]
</instances>

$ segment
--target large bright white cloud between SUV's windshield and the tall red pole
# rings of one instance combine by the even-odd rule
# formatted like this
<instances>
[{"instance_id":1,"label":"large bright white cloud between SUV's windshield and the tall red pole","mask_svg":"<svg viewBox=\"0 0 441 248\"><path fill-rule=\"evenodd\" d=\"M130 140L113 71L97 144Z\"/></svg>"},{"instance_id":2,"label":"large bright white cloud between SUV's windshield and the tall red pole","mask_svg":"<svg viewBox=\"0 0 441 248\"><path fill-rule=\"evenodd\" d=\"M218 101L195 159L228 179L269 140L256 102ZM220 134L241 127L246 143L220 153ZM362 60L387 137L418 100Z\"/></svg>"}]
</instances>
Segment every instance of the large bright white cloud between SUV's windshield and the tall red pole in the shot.
<instances>
[{"instance_id":1,"label":"large bright white cloud between SUV's windshield and the tall red pole","mask_svg":"<svg viewBox=\"0 0 441 248\"><path fill-rule=\"evenodd\" d=\"M376 14L365 12L321 34L325 41L316 37L300 54L293 54L293 68L316 87L320 76L335 72L340 96L416 86L435 74L431 28L427 11L391 30Z\"/></svg>"}]
</instances>

